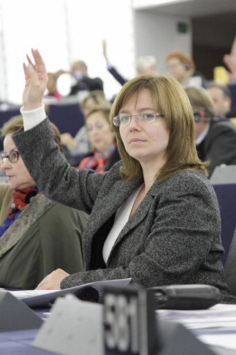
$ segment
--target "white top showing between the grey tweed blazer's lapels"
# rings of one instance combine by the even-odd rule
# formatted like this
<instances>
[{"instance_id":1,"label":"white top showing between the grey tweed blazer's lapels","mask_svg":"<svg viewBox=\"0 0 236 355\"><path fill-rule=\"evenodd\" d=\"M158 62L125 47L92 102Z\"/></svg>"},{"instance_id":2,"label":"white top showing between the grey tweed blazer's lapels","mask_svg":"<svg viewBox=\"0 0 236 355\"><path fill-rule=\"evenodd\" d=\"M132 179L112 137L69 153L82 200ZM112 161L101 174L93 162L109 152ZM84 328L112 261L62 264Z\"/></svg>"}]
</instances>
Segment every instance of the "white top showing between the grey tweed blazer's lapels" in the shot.
<instances>
[{"instance_id":1,"label":"white top showing between the grey tweed blazer's lapels","mask_svg":"<svg viewBox=\"0 0 236 355\"><path fill-rule=\"evenodd\" d=\"M116 217L114 220L114 224L111 227L111 230L107 236L107 239L105 240L105 243L103 245L102 249L102 257L107 263L107 259L109 257L109 254L111 252L111 249L113 248L114 243L116 242L116 239L118 235L120 234L122 228L125 226L127 223L127 220L129 219L129 214L131 212L131 209L134 205L134 201L136 200L136 197L138 196L138 192L140 189L143 187L143 184L138 187L128 198L125 200L125 202L122 203L120 208L116 211Z\"/></svg>"}]
</instances>

